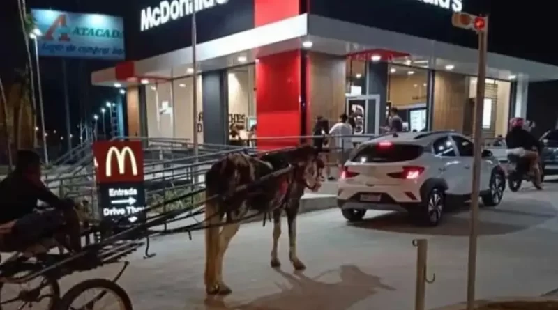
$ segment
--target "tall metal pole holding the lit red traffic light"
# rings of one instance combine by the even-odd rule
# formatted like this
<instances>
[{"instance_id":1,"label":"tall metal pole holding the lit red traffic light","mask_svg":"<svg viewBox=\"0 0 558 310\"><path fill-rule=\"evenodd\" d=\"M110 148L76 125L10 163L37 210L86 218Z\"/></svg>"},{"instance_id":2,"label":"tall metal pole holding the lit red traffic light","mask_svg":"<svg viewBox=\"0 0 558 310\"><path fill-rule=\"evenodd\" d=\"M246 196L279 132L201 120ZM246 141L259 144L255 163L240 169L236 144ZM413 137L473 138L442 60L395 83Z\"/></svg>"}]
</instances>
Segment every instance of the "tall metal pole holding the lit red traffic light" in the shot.
<instances>
[{"instance_id":1,"label":"tall metal pole holding the lit red traffic light","mask_svg":"<svg viewBox=\"0 0 558 310\"><path fill-rule=\"evenodd\" d=\"M486 52L488 37L488 17L485 17L485 29L478 32L478 77L476 79L476 104L474 117L474 162L473 188L471 194L471 219L469 231L469 262L467 270L467 310L474 310L476 282L476 250L478 235L478 199L481 179L482 118L484 88L486 79Z\"/></svg>"}]
</instances>

